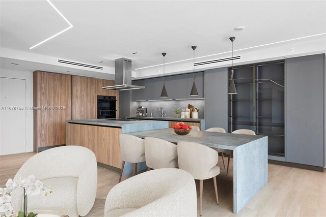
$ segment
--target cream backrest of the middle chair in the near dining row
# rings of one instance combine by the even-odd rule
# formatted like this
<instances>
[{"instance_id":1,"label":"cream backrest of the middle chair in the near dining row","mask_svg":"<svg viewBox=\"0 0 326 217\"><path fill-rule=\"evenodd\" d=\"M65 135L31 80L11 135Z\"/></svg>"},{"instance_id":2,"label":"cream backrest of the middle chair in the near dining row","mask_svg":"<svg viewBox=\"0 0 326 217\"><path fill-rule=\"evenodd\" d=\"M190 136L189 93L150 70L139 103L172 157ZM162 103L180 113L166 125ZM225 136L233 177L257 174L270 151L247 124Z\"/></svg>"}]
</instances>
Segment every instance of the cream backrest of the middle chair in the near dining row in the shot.
<instances>
[{"instance_id":1,"label":"cream backrest of the middle chair in the near dining row","mask_svg":"<svg viewBox=\"0 0 326 217\"><path fill-rule=\"evenodd\" d=\"M145 137L145 158L149 168L169 168L170 162L177 157L177 145L163 139Z\"/></svg>"}]
</instances>

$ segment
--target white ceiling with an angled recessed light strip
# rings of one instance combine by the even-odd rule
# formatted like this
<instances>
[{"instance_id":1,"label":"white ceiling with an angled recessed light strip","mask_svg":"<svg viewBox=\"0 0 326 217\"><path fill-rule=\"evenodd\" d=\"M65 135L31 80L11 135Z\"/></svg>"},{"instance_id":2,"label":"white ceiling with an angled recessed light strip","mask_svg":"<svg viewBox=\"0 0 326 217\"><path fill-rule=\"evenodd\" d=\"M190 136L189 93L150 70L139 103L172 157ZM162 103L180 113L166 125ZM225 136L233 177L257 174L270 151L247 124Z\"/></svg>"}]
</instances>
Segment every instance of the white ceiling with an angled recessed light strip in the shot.
<instances>
[{"instance_id":1,"label":"white ceiling with an angled recessed light strip","mask_svg":"<svg viewBox=\"0 0 326 217\"><path fill-rule=\"evenodd\" d=\"M228 52L231 36L236 37L234 49L237 50L326 33L326 1L51 3L73 27L29 49L69 27L68 23L45 0L1 1L0 47L107 68L114 68L115 59L126 57L132 59L135 71L161 64L161 52L167 53L166 63L191 59L192 45L197 45L196 57ZM237 26L245 29L236 31ZM320 41L321 50L325 50L325 35L321 37L316 40ZM314 37L307 40L310 43ZM189 69L192 60L180 71ZM155 69L155 73L162 72Z\"/></svg>"}]
</instances>

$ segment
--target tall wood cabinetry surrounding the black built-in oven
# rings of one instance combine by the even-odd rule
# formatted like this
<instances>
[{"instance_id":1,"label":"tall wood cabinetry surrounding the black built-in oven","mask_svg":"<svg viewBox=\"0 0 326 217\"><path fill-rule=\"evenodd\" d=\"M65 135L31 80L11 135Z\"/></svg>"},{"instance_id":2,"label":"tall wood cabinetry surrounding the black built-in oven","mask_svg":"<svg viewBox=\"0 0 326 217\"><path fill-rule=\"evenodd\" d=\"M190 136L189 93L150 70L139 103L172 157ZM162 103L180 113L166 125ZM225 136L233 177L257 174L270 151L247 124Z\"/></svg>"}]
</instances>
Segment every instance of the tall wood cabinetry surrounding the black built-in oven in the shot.
<instances>
[{"instance_id":1,"label":"tall wood cabinetry surrounding the black built-in oven","mask_svg":"<svg viewBox=\"0 0 326 217\"><path fill-rule=\"evenodd\" d=\"M115 96L116 117L119 117L119 90L102 89L115 81L83 76L72 76L72 119L96 119L97 96Z\"/></svg>"}]
</instances>

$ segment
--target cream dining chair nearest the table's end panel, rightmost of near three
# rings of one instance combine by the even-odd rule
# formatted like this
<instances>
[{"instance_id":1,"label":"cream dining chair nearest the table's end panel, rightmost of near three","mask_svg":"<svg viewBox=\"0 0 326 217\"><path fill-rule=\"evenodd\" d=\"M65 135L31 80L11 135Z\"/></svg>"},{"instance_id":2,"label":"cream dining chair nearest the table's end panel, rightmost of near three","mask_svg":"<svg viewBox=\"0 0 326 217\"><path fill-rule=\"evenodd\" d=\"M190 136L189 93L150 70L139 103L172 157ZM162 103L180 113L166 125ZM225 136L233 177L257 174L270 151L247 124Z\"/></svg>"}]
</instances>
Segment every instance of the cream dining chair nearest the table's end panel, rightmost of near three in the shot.
<instances>
[{"instance_id":1,"label":"cream dining chair nearest the table's end panel, rightmost of near three","mask_svg":"<svg viewBox=\"0 0 326 217\"><path fill-rule=\"evenodd\" d=\"M220 174L217 166L219 154L210 147L194 142L178 142L179 169L185 170L199 179L199 214L202 215L203 180L213 178L216 203L219 205L216 175Z\"/></svg>"}]
</instances>

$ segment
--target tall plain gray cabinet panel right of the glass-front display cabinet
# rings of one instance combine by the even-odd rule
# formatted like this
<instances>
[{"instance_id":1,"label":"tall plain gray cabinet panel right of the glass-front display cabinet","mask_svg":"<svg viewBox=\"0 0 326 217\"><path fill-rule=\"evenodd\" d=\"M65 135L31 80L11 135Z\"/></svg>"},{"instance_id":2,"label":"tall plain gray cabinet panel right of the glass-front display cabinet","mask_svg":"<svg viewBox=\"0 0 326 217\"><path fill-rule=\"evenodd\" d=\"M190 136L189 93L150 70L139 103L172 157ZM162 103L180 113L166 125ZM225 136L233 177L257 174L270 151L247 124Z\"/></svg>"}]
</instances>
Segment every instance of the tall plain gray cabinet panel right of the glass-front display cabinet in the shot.
<instances>
[{"instance_id":1,"label":"tall plain gray cabinet panel right of the glass-front display cabinet","mask_svg":"<svg viewBox=\"0 0 326 217\"><path fill-rule=\"evenodd\" d=\"M325 55L286 60L287 162L325 166Z\"/></svg>"}]
</instances>

